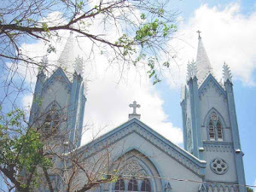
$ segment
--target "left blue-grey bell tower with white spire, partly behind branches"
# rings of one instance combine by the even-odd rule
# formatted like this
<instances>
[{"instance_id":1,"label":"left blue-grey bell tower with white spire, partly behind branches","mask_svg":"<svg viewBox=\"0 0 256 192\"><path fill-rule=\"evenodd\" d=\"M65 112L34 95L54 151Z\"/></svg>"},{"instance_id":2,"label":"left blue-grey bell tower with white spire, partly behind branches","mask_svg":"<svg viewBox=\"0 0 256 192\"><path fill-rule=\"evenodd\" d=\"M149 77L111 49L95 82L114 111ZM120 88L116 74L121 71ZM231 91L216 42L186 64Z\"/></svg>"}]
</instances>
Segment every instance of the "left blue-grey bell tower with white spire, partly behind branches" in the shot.
<instances>
[{"instance_id":1,"label":"left blue-grey bell tower with white spire, partly behind branches","mask_svg":"<svg viewBox=\"0 0 256 192\"><path fill-rule=\"evenodd\" d=\"M83 59L73 53L74 38L69 35L59 56L57 68L47 76L47 57L41 63L29 123L41 133L62 141L62 145L78 148L81 145L84 105ZM73 59L72 59L73 58Z\"/></svg>"}]
</instances>

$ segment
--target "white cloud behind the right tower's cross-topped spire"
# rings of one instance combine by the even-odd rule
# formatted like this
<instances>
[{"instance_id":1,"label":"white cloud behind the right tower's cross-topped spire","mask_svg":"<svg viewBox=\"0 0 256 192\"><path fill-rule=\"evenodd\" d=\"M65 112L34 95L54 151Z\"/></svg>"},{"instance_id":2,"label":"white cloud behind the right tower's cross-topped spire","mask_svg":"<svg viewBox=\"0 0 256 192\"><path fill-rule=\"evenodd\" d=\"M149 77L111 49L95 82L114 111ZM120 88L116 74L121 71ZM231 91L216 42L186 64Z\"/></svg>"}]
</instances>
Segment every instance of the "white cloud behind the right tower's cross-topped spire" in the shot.
<instances>
[{"instance_id":1,"label":"white cloud behind the right tower's cross-topped spire","mask_svg":"<svg viewBox=\"0 0 256 192\"><path fill-rule=\"evenodd\" d=\"M192 17L181 22L176 38L169 42L178 50L177 63L166 75L171 87L184 84L187 61L197 57L198 29L218 79L222 77L223 63L227 62L233 78L255 85L252 73L256 66L256 11L245 16L239 4L230 4L226 8L201 5Z\"/></svg>"}]
</instances>

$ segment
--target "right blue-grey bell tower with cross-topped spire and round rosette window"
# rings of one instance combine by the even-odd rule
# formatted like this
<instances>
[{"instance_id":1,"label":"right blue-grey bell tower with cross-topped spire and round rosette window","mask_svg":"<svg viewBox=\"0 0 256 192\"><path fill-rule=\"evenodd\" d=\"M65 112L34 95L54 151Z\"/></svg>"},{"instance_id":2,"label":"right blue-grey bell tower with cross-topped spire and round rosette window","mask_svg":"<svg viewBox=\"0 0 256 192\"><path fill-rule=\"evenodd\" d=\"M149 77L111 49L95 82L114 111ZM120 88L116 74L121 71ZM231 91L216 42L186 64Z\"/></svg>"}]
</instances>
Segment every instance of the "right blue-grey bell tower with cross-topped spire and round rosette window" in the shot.
<instances>
[{"instance_id":1,"label":"right blue-grey bell tower with cross-topped spire and round rosette window","mask_svg":"<svg viewBox=\"0 0 256 192\"><path fill-rule=\"evenodd\" d=\"M187 64L181 98L184 148L206 160L208 191L245 192L245 172L230 69L223 67L224 84L212 73L199 32L197 61Z\"/></svg>"}]
</instances>

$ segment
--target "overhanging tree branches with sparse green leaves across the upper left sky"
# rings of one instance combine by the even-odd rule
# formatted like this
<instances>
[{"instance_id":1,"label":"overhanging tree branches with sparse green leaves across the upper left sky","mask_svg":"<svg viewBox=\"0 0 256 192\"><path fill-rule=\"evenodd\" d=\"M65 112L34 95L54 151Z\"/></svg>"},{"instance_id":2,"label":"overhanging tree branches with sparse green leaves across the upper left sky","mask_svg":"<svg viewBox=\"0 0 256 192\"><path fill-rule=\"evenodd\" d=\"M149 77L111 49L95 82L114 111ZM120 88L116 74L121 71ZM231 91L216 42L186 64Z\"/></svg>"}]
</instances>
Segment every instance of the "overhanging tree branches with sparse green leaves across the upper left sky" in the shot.
<instances>
[{"instance_id":1,"label":"overhanging tree branches with sparse green leaves across the upper left sky","mask_svg":"<svg viewBox=\"0 0 256 192\"><path fill-rule=\"evenodd\" d=\"M61 38L60 31L69 30L79 38L90 39L92 52L108 50L114 53L115 61L124 65L145 65L149 78L154 78L156 84L160 81L161 68L169 68L173 59L167 42L176 31L176 12L169 11L170 6L169 0L5 2L0 8L0 56L3 62L23 61L41 66L35 57L21 49L21 44L31 39L41 40L48 45L50 53L55 50L52 40ZM47 18L53 12L57 14ZM91 31L90 26L97 23L102 31ZM117 37L113 39L114 31Z\"/></svg>"}]
</instances>

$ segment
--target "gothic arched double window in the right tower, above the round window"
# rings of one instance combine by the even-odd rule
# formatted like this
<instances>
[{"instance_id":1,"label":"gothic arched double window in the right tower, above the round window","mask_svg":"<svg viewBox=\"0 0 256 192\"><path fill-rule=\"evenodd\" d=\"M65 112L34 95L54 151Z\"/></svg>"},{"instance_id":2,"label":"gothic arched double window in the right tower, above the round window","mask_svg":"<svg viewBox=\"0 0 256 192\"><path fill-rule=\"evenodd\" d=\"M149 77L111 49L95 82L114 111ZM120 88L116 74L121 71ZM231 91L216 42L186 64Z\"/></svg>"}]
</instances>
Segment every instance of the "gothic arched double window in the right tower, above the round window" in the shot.
<instances>
[{"instance_id":1,"label":"gothic arched double window in the right tower, above the round window","mask_svg":"<svg viewBox=\"0 0 256 192\"><path fill-rule=\"evenodd\" d=\"M210 141L223 141L223 126L215 112L212 112L209 117L208 133Z\"/></svg>"}]
</instances>

